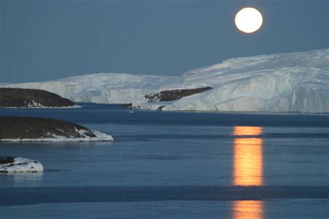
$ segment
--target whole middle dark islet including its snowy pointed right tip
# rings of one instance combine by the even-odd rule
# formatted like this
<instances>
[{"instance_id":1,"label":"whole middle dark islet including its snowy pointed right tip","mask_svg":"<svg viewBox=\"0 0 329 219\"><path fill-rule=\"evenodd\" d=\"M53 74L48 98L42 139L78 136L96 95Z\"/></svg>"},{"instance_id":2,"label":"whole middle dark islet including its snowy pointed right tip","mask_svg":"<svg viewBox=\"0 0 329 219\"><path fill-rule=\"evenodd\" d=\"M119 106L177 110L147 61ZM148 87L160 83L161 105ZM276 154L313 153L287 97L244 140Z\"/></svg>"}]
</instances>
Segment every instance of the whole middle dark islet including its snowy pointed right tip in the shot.
<instances>
[{"instance_id":1,"label":"whole middle dark islet including its snowy pointed right tip","mask_svg":"<svg viewBox=\"0 0 329 219\"><path fill-rule=\"evenodd\" d=\"M76 123L36 117L0 117L0 141L112 141Z\"/></svg>"}]
</instances>

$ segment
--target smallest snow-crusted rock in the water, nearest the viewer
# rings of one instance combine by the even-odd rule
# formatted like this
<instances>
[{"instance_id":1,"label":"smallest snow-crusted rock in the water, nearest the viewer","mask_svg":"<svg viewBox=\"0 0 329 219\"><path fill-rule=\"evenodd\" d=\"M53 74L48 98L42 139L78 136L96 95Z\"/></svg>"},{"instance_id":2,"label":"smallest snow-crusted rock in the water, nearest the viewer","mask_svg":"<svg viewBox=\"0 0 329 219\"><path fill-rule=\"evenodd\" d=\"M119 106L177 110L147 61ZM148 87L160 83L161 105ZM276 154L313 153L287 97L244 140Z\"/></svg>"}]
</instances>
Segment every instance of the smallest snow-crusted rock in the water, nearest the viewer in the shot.
<instances>
[{"instance_id":1,"label":"smallest snow-crusted rock in the water, nearest the viewer","mask_svg":"<svg viewBox=\"0 0 329 219\"><path fill-rule=\"evenodd\" d=\"M44 167L39 161L23 157L0 157L0 173L42 173Z\"/></svg>"}]
</instances>

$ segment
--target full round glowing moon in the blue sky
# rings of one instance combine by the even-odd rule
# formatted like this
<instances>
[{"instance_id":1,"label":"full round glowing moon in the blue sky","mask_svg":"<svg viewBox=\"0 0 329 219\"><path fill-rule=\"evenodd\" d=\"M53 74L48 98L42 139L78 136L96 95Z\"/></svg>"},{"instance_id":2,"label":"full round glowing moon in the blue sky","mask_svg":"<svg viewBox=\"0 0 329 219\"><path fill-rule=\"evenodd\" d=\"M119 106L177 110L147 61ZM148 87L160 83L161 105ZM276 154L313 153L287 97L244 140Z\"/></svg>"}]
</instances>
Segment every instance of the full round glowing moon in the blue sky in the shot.
<instances>
[{"instance_id":1,"label":"full round glowing moon in the blue sky","mask_svg":"<svg viewBox=\"0 0 329 219\"><path fill-rule=\"evenodd\" d=\"M262 23L262 14L255 8L243 8L235 15L235 25L244 33L255 32Z\"/></svg>"}]
</instances>

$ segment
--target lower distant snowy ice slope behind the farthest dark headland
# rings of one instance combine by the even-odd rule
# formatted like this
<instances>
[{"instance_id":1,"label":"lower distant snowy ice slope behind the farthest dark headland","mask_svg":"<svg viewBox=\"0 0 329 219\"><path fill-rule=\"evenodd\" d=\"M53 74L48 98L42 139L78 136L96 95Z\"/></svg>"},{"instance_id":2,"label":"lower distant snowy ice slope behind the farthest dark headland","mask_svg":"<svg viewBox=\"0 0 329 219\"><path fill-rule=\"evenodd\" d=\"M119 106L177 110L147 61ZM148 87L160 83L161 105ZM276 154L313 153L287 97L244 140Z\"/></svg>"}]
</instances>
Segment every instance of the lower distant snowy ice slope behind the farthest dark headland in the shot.
<instances>
[{"instance_id":1,"label":"lower distant snowy ice slope behind the farthest dark headland","mask_svg":"<svg viewBox=\"0 0 329 219\"><path fill-rule=\"evenodd\" d=\"M2 87L43 89L74 102L132 103L133 100L144 99L146 94L158 91L158 87L162 85L180 81L179 77L173 76L95 73L45 82L10 84Z\"/></svg>"}]
</instances>

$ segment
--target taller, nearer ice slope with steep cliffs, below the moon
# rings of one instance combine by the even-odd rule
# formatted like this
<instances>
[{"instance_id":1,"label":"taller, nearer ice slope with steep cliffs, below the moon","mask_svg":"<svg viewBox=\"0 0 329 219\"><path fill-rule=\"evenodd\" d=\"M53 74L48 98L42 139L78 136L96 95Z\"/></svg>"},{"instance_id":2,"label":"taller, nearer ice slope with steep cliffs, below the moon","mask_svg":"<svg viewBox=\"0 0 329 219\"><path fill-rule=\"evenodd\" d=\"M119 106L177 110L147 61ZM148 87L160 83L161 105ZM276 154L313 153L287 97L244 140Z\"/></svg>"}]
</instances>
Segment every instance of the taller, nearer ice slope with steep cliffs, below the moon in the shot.
<instances>
[{"instance_id":1,"label":"taller, nearer ice slope with steep cliffs, below the moon","mask_svg":"<svg viewBox=\"0 0 329 219\"><path fill-rule=\"evenodd\" d=\"M233 58L187 71L178 87L213 87L162 110L329 112L329 49ZM162 87L166 89L166 87Z\"/></svg>"}]
</instances>

